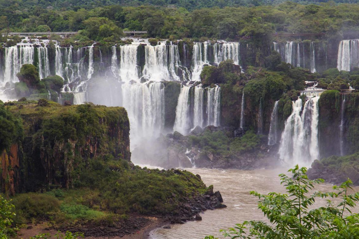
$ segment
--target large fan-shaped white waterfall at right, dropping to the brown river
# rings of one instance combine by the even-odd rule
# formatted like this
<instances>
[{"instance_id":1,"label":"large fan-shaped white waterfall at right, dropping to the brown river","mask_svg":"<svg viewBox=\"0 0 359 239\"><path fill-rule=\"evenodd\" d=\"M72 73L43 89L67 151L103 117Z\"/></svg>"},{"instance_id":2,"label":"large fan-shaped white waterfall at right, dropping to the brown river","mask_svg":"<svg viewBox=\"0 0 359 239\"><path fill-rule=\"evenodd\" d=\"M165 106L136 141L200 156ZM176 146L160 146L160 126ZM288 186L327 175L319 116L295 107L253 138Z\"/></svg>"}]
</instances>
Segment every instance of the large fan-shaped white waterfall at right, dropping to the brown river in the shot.
<instances>
[{"instance_id":1,"label":"large fan-shaped white waterfall at right, dropping to the brown river","mask_svg":"<svg viewBox=\"0 0 359 239\"><path fill-rule=\"evenodd\" d=\"M308 97L302 110L302 99L293 102L292 114L285 121L279 145L279 156L285 163L310 166L319 157L318 99Z\"/></svg>"}]
</instances>

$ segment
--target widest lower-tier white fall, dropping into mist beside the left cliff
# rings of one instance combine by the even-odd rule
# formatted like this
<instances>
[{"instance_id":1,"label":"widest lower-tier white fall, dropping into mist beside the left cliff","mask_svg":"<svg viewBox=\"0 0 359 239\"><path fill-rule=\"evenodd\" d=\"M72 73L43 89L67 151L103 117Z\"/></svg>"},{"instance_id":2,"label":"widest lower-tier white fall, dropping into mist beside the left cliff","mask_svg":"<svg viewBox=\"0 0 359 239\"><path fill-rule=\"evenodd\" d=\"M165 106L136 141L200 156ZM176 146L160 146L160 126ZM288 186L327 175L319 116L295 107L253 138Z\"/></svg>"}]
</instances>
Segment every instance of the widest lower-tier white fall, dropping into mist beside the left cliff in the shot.
<instances>
[{"instance_id":1,"label":"widest lower-tier white fall, dropping into mist beside the left cliff","mask_svg":"<svg viewBox=\"0 0 359 239\"><path fill-rule=\"evenodd\" d=\"M164 125L164 86L160 82L125 83L122 102L130 120L131 145L157 137Z\"/></svg>"}]
</instances>

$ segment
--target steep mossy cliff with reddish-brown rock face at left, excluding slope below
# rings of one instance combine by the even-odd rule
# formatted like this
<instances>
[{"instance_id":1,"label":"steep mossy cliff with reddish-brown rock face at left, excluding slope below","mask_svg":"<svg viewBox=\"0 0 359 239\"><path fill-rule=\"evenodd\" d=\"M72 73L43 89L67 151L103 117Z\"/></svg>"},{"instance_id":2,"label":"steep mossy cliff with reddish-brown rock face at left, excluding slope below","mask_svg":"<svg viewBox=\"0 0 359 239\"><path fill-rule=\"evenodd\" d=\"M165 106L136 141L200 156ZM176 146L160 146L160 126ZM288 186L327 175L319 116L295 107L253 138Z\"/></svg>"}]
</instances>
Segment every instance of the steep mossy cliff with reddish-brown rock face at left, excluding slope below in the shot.
<instances>
[{"instance_id":1,"label":"steep mossy cliff with reddish-brown rock face at left, excluding slope below","mask_svg":"<svg viewBox=\"0 0 359 239\"><path fill-rule=\"evenodd\" d=\"M130 161L130 126L122 107L9 105L23 120L24 138L0 154L2 191L71 188L79 184L89 159Z\"/></svg>"}]
</instances>

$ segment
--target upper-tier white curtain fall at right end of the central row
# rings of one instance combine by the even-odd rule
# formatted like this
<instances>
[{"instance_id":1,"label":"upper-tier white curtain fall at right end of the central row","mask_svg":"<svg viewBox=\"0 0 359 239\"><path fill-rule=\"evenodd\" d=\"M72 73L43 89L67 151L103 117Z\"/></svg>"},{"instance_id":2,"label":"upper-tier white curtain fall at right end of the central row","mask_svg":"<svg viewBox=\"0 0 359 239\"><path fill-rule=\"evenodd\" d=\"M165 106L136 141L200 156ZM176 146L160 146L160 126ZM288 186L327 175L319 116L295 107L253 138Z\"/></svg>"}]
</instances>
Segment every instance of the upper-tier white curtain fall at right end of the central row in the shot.
<instances>
[{"instance_id":1,"label":"upper-tier white curtain fall at right end of the central row","mask_svg":"<svg viewBox=\"0 0 359 239\"><path fill-rule=\"evenodd\" d=\"M214 63L219 64L222 61L231 59L234 64L239 65L239 42L215 43L213 49Z\"/></svg>"}]
</instances>

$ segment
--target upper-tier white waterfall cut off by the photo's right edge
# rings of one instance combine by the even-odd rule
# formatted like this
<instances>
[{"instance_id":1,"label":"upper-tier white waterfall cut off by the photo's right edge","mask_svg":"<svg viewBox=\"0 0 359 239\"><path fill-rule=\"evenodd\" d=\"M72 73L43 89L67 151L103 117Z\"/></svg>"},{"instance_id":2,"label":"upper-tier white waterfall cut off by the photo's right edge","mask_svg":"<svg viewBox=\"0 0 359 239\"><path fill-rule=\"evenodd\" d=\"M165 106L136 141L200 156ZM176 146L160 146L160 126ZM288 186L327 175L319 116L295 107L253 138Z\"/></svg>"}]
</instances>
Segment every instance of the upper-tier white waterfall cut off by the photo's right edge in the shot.
<instances>
[{"instance_id":1,"label":"upper-tier white waterfall cut off by the photo's right edge","mask_svg":"<svg viewBox=\"0 0 359 239\"><path fill-rule=\"evenodd\" d=\"M342 40L339 43L337 68L339 71L350 71L350 67L359 66L359 39Z\"/></svg>"}]
</instances>

